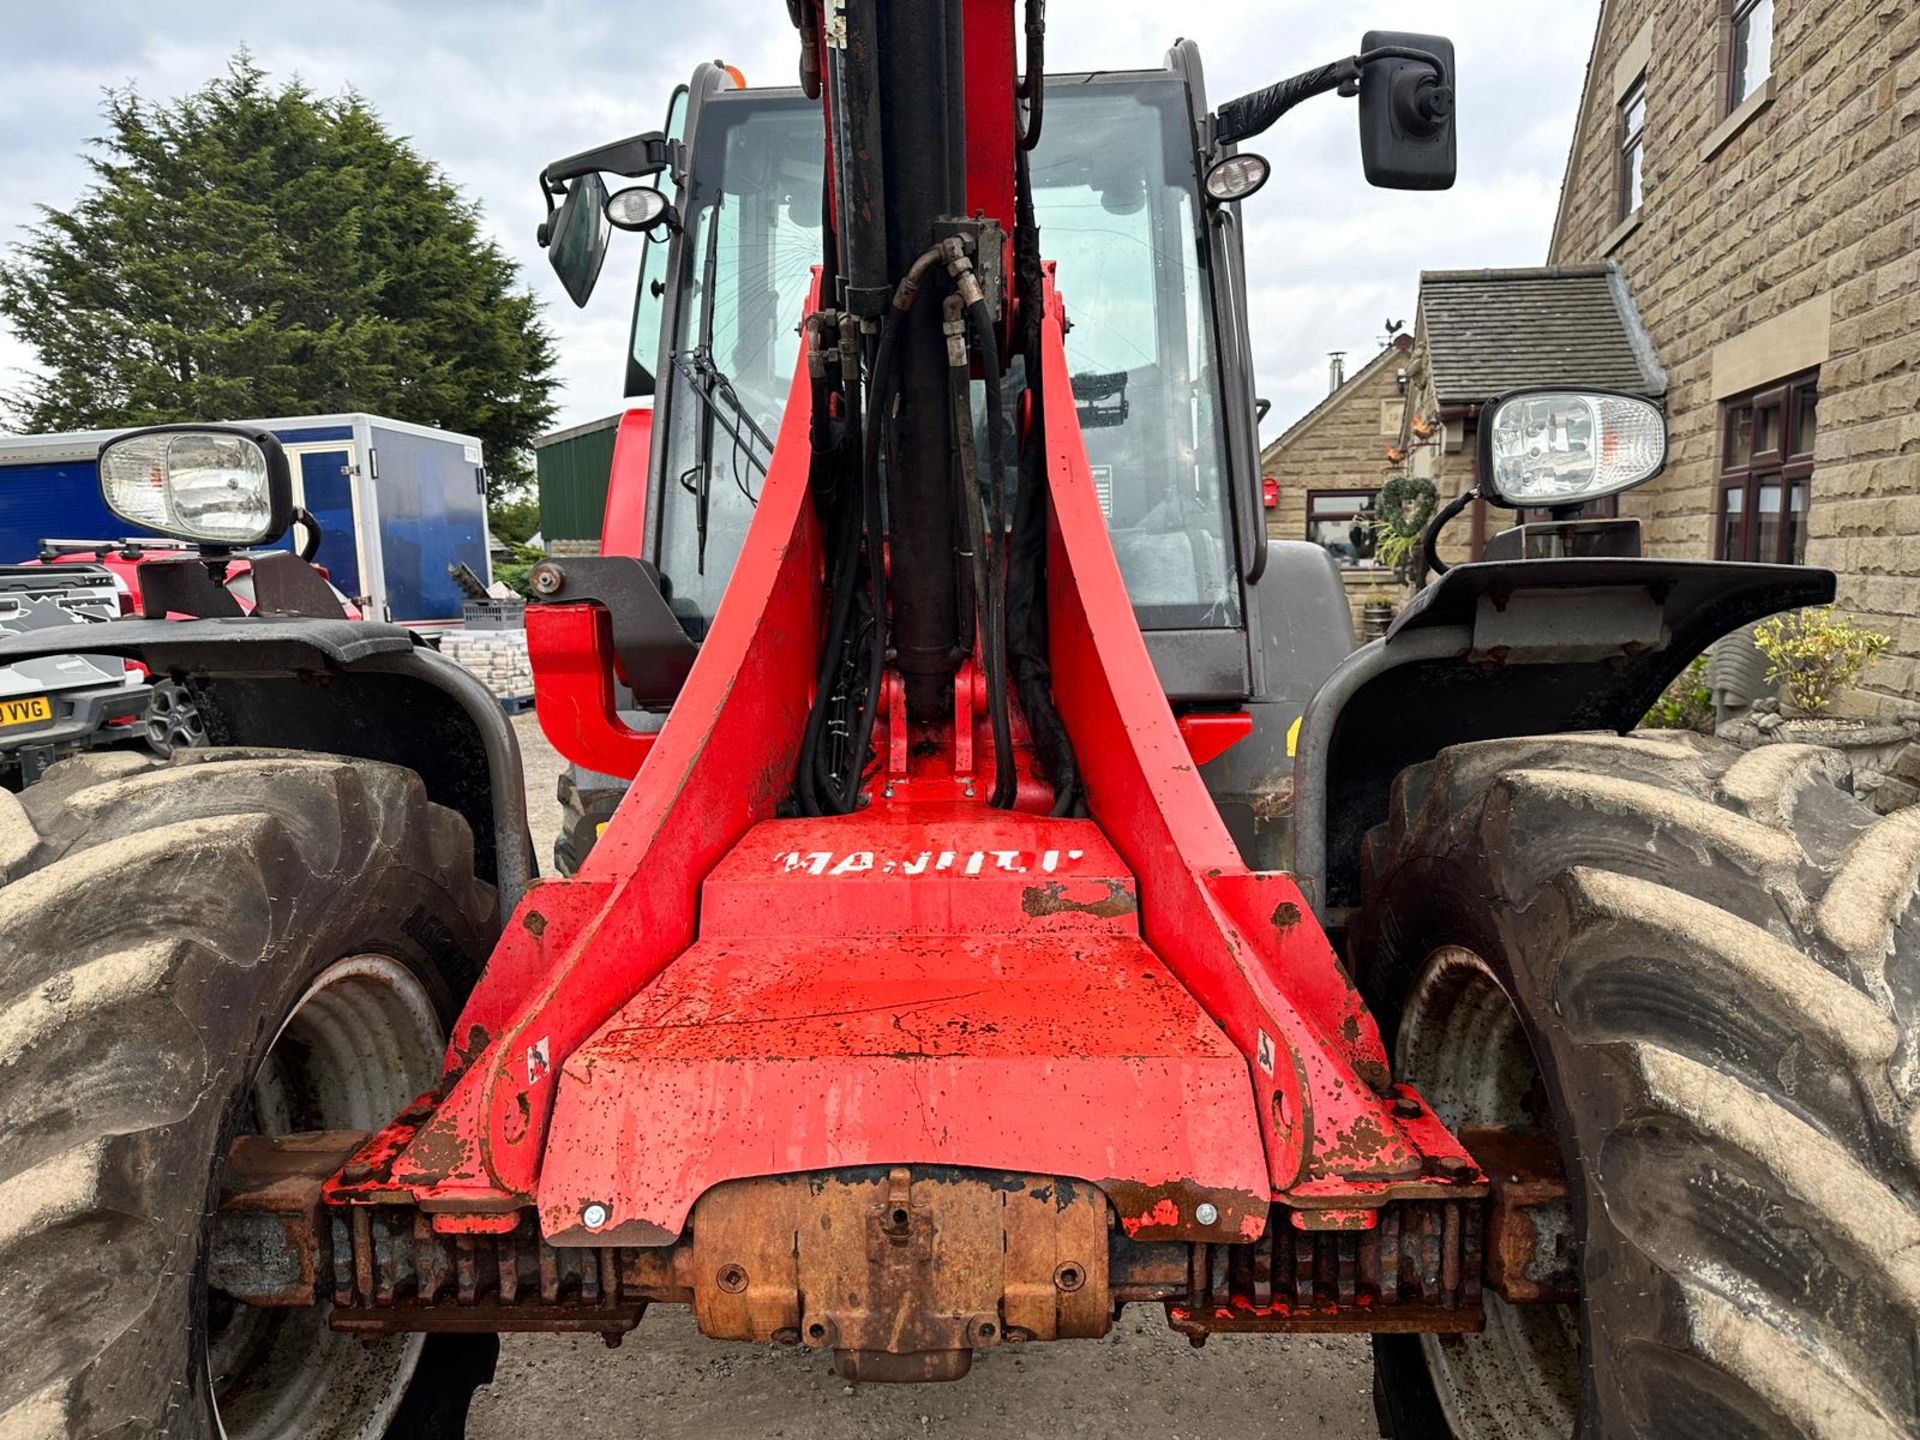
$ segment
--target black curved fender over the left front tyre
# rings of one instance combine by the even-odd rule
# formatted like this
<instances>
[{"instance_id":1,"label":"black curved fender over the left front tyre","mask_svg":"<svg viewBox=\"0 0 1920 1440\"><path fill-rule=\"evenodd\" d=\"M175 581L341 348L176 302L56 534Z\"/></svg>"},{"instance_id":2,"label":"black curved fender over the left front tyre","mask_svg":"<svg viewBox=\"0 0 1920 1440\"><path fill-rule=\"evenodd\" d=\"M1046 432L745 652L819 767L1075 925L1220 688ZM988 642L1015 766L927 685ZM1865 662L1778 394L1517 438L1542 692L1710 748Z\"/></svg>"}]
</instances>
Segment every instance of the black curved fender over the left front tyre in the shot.
<instances>
[{"instance_id":1,"label":"black curved fender over the left front tyre","mask_svg":"<svg viewBox=\"0 0 1920 1440\"><path fill-rule=\"evenodd\" d=\"M499 699L413 632L371 620L232 616L108 620L0 636L0 666L117 655L192 682L221 745L275 745L401 764L467 818L501 914L534 877L520 745Z\"/></svg>"}]
</instances>

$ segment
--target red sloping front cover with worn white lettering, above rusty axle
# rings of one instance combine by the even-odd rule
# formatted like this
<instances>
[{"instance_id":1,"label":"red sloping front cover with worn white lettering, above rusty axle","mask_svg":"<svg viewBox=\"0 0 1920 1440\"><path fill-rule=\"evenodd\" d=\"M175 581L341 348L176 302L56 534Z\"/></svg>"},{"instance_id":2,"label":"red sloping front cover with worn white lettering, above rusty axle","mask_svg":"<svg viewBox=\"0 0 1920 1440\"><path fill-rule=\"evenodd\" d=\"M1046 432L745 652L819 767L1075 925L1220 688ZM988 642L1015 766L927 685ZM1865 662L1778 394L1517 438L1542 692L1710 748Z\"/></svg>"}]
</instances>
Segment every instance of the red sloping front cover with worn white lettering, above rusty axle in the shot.
<instances>
[{"instance_id":1,"label":"red sloping front cover with worn white lettering, above rusty axle","mask_svg":"<svg viewBox=\"0 0 1920 1440\"><path fill-rule=\"evenodd\" d=\"M1140 943L1100 829L876 810L774 820L720 862L701 939L564 1066L541 1231L659 1244L722 1181L958 1164L1092 1179L1140 1238L1200 1200L1258 1235L1246 1062ZM588 1231L588 1202L616 1223Z\"/></svg>"}]
</instances>

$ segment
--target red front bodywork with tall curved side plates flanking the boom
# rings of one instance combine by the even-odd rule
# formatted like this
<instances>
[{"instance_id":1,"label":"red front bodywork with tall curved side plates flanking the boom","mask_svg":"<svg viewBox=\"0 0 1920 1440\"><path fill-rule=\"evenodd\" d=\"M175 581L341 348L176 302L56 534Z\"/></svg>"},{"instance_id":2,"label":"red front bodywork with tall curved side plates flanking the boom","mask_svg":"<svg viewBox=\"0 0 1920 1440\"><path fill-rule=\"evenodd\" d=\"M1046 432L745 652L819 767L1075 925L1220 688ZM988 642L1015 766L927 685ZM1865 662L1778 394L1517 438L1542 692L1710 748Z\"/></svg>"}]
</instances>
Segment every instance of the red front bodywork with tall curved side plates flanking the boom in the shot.
<instances>
[{"instance_id":1,"label":"red front bodywork with tall curved side plates flanking the boom","mask_svg":"<svg viewBox=\"0 0 1920 1440\"><path fill-rule=\"evenodd\" d=\"M1054 691L1092 818L1046 816L1023 728L1020 808L973 799L972 672L952 722L908 733L889 707L864 808L774 818L822 626L801 367L672 716L582 872L522 900L447 1094L396 1137L384 1187L436 1227L497 1229L538 1200L555 1244L666 1244L730 1179L925 1162L1092 1181L1137 1238L1235 1242L1269 1200L1350 1225L1476 1179L1390 1085L1300 889L1250 874L1219 820L1135 624L1044 300ZM603 649L591 609L536 616L541 707L603 707L584 670L551 668L555 647Z\"/></svg>"}]
</instances>

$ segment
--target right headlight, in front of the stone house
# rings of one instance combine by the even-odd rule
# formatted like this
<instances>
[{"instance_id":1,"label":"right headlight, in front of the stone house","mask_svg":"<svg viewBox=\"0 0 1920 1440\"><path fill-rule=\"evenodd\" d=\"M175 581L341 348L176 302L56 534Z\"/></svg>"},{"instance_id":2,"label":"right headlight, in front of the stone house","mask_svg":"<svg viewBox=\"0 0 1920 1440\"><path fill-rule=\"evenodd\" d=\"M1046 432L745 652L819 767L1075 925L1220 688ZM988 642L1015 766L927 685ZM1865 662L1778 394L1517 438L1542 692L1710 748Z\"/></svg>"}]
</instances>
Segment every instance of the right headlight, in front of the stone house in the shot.
<instances>
[{"instance_id":1,"label":"right headlight, in front of the stone house","mask_svg":"<svg viewBox=\"0 0 1920 1440\"><path fill-rule=\"evenodd\" d=\"M1526 390L1480 417L1480 476L1515 509L1584 505L1657 476L1667 417L1611 390Z\"/></svg>"}]
</instances>

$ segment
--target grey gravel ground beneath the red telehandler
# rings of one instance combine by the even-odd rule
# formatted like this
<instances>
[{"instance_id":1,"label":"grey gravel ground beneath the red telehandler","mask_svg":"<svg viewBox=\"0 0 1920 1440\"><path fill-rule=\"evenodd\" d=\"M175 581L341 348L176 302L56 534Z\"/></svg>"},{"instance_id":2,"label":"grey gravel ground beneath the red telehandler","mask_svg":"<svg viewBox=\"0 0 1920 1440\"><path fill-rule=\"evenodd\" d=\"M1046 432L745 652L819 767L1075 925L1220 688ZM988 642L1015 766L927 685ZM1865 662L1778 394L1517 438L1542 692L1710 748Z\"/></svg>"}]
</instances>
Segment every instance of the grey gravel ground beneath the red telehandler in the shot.
<instances>
[{"instance_id":1,"label":"grey gravel ground beneath the red telehandler","mask_svg":"<svg viewBox=\"0 0 1920 1440\"><path fill-rule=\"evenodd\" d=\"M532 714L515 720L526 756L534 847L553 852L559 756ZM678 1306L626 1344L507 1336L499 1373L474 1398L472 1440L852 1440L948 1436L1060 1440L1375 1440L1367 1342L1350 1336L1215 1336L1194 1350L1160 1313L1133 1306L1106 1340L981 1356L954 1384L849 1386L826 1356L705 1340Z\"/></svg>"}]
</instances>

